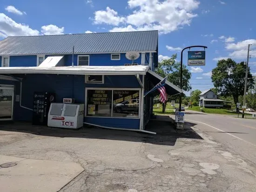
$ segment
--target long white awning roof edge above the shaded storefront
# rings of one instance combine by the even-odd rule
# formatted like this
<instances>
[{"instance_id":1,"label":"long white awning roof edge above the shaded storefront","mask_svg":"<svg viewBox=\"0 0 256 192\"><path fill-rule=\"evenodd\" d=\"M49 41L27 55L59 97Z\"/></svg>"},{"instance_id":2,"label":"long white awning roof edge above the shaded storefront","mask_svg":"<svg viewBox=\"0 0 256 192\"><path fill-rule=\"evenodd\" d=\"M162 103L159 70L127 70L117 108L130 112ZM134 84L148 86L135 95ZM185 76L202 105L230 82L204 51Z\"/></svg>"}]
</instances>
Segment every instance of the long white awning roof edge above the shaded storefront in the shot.
<instances>
[{"instance_id":1,"label":"long white awning roof edge above the shaded storefront","mask_svg":"<svg viewBox=\"0 0 256 192\"><path fill-rule=\"evenodd\" d=\"M149 66L0 67L0 74L146 75Z\"/></svg>"}]
</instances>

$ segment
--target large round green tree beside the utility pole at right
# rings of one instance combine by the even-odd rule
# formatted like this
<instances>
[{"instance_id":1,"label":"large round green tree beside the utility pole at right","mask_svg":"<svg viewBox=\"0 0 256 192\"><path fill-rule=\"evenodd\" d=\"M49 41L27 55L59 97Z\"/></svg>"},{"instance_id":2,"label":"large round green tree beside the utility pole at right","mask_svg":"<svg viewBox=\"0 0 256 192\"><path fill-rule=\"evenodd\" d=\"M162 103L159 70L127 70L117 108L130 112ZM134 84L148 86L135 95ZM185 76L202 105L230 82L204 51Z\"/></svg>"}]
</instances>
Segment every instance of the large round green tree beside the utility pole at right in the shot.
<instances>
[{"instance_id":1,"label":"large round green tree beside the utility pole at right","mask_svg":"<svg viewBox=\"0 0 256 192\"><path fill-rule=\"evenodd\" d=\"M234 60L219 60L216 68L212 70L212 82L217 88L218 93L222 96L232 96L234 103L238 102L238 97L243 95L245 83L246 66L241 63L236 63ZM247 90L252 88L254 80L248 71Z\"/></svg>"}]
</instances>

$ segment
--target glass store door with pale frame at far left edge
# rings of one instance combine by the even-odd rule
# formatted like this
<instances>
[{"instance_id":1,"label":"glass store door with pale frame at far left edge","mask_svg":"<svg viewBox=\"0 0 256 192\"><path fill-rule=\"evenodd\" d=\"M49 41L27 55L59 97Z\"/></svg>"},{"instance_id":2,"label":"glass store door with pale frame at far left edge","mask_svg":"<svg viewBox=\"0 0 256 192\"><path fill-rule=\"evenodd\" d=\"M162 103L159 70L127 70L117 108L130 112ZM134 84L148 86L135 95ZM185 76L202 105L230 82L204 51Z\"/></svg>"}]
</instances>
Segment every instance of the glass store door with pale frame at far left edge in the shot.
<instances>
[{"instance_id":1,"label":"glass store door with pale frame at far left edge","mask_svg":"<svg viewBox=\"0 0 256 192\"><path fill-rule=\"evenodd\" d=\"M13 87L0 86L0 120L13 120Z\"/></svg>"}]
</instances>

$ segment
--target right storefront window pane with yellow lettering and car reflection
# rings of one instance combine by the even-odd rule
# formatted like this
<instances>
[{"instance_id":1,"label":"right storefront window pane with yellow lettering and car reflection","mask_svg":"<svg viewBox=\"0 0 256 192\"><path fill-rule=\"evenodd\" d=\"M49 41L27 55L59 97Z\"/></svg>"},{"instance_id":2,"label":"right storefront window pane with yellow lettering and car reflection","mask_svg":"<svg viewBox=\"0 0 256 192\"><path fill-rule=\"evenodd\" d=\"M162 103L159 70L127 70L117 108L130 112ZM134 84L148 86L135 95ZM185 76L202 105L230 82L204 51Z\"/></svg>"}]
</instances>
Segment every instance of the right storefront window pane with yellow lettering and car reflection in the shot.
<instances>
[{"instance_id":1,"label":"right storefront window pane with yellow lettering and car reflection","mask_svg":"<svg viewBox=\"0 0 256 192\"><path fill-rule=\"evenodd\" d=\"M113 117L138 117L139 97L138 90L114 90Z\"/></svg>"}]
</instances>

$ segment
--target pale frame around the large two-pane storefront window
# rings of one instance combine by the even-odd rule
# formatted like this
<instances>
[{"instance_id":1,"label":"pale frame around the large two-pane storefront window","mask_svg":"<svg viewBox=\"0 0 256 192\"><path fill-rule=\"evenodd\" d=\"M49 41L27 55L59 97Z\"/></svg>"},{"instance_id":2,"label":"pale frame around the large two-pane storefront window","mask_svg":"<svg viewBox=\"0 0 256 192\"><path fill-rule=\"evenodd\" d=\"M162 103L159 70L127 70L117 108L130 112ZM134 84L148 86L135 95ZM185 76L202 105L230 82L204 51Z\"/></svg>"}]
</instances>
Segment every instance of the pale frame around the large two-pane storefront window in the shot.
<instances>
[{"instance_id":1,"label":"pale frame around the large two-pane storefront window","mask_svg":"<svg viewBox=\"0 0 256 192\"><path fill-rule=\"evenodd\" d=\"M111 107L111 116L88 116L87 115L87 93L88 90L112 90L112 107ZM124 90L124 91L139 91L139 112L137 117L113 117L113 93L114 90ZM86 87L85 88L85 109L84 117L87 118L114 118L114 119L141 119L141 88L96 88L96 87Z\"/></svg>"}]
</instances>

